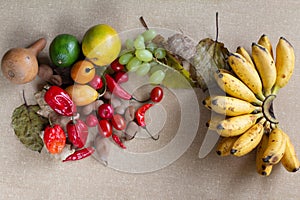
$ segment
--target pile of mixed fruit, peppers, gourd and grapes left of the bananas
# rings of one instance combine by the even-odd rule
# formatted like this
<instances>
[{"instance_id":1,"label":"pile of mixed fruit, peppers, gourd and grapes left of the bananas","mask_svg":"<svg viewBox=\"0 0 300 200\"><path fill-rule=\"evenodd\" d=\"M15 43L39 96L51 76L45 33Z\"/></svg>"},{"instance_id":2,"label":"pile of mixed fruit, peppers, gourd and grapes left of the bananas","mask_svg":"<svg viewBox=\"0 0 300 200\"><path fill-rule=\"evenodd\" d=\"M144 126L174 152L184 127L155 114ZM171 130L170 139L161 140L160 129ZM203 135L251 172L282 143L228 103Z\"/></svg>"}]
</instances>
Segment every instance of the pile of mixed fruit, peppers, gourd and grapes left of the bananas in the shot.
<instances>
[{"instance_id":1,"label":"pile of mixed fruit, peppers, gourd and grapes left of the bananas","mask_svg":"<svg viewBox=\"0 0 300 200\"><path fill-rule=\"evenodd\" d=\"M49 47L53 66L38 65L37 56L46 45L43 38L29 48L9 50L2 59L7 79L24 84L39 76L46 82L35 94L38 105L27 105L24 98L24 105L13 112L12 125L20 141L34 151L45 146L63 161L79 160L96 151L106 163L109 140L125 149L124 142L141 128L157 140L159 135L153 136L145 121L145 113L164 94L163 86L156 85L165 78L159 63L164 65L166 51L152 42L155 36L154 30L146 30L134 40L127 39L121 51L121 39L109 25L90 28L81 44L73 35L60 34ZM128 72L151 73L152 89L146 91L145 99L138 100L122 87ZM138 104L131 105L131 101ZM98 133L95 138L91 129Z\"/></svg>"}]
</instances>

